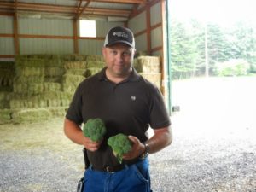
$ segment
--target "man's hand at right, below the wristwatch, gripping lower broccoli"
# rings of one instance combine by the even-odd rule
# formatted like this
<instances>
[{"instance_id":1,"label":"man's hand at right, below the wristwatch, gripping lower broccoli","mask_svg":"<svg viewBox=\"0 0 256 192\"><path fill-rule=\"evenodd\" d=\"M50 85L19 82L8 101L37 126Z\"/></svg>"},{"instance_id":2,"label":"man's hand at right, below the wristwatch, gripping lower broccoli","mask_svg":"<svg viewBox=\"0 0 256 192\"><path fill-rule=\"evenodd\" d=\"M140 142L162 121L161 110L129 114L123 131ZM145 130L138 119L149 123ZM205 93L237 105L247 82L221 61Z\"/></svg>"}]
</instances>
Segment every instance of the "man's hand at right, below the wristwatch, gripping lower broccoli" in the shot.
<instances>
[{"instance_id":1,"label":"man's hand at right, below the wristwatch, gripping lower broccoli","mask_svg":"<svg viewBox=\"0 0 256 192\"><path fill-rule=\"evenodd\" d=\"M124 160L132 160L143 154L145 150L145 146L143 143L140 142L140 140L137 139L137 137L129 136L128 137L131 142L133 143L131 151L127 154L123 155Z\"/></svg>"}]
</instances>

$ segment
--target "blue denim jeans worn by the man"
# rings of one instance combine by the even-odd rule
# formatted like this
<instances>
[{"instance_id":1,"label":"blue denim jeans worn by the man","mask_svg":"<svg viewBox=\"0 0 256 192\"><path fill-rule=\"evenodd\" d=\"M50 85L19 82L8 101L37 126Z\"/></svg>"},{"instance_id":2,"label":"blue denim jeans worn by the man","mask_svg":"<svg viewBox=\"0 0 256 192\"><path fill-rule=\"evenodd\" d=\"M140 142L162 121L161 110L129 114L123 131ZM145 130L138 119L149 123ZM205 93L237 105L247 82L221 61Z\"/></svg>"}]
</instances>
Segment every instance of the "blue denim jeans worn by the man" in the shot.
<instances>
[{"instance_id":1,"label":"blue denim jeans worn by the man","mask_svg":"<svg viewBox=\"0 0 256 192\"><path fill-rule=\"evenodd\" d=\"M148 160L139 160L125 169L109 173L93 170L84 172L84 192L150 192Z\"/></svg>"}]
</instances>

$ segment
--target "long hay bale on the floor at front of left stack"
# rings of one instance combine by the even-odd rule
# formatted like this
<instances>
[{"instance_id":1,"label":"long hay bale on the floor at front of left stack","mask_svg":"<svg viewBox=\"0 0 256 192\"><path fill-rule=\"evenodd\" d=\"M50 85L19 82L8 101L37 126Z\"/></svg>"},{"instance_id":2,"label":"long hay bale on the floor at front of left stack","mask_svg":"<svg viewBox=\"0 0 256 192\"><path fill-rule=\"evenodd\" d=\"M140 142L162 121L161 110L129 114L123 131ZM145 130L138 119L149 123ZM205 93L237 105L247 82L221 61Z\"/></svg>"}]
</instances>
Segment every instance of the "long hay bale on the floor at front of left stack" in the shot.
<instances>
[{"instance_id":1,"label":"long hay bale on the floor at front of left stack","mask_svg":"<svg viewBox=\"0 0 256 192\"><path fill-rule=\"evenodd\" d=\"M16 124L32 123L51 118L51 113L45 108L38 109L20 109L12 114L12 121Z\"/></svg>"}]
</instances>

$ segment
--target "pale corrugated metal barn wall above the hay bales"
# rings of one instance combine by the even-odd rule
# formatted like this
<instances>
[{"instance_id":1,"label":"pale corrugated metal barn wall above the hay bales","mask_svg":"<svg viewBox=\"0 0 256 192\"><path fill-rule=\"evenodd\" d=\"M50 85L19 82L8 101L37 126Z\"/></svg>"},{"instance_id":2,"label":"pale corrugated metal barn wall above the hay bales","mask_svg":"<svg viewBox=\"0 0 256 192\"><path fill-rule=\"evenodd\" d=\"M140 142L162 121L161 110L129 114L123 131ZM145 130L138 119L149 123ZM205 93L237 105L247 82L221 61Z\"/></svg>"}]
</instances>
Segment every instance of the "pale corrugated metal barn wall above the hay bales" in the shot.
<instances>
[{"instance_id":1,"label":"pale corrugated metal barn wall above the hay bales","mask_svg":"<svg viewBox=\"0 0 256 192\"><path fill-rule=\"evenodd\" d=\"M161 55L162 46L161 6L150 8L150 37L152 55ZM147 14L144 10L131 18L127 26L135 33L137 51L148 51ZM14 19L0 15L0 55L15 55ZM73 54L73 20L18 18L20 54ZM101 55L103 38L112 26L124 26L124 22L96 21L96 38L79 38L79 54ZM79 23L78 23L79 33ZM79 37L79 34L78 34Z\"/></svg>"}]
</instances>

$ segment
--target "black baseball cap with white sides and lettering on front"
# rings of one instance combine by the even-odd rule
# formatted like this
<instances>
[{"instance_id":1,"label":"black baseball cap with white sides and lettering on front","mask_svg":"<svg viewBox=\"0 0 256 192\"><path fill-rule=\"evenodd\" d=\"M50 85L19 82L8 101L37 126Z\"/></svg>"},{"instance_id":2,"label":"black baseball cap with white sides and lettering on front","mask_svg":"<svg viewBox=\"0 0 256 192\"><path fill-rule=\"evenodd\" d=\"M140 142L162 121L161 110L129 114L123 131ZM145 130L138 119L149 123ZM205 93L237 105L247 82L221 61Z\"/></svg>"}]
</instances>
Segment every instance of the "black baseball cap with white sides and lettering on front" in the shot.
<instances>
[{"instance_id":1,"label":"black baseball cap with white sides and lettering on front","mask_svg":"<svg viewBox=\"0 0 256 192\"><path fill-rule=\"evenodd\" d=\"M104 47L118 43L127 44L131 48L135 48L134 36L130 29L123 26L115 26L108 31Z\"/></svg>"}]
</instances>

